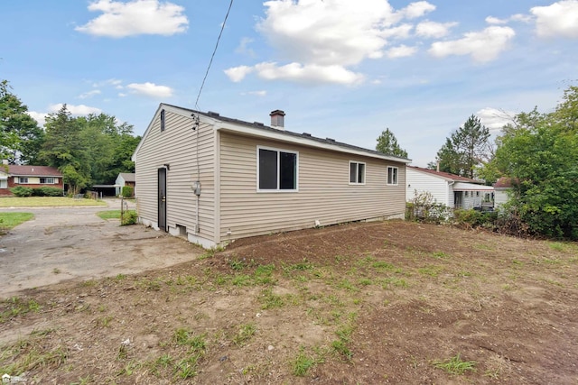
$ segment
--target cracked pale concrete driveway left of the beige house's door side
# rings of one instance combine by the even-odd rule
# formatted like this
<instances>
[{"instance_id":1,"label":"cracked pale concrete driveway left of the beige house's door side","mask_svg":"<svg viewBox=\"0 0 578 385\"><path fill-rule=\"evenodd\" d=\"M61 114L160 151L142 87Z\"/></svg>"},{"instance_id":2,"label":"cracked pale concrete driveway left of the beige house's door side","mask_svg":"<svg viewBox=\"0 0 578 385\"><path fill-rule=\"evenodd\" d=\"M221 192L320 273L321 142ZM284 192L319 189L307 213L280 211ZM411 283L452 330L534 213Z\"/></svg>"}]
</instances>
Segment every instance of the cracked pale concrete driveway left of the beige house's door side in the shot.
<instances>
[{"instance_id":1,"label":"cracked pale concrete driveway left of the beige house's door side","mask_svg":"<svg viewBox=\"0 0 578 385\"><path fill-rule=\"evenodd\" d=\"M0 236L0 298L63 280L90 280L191 261L202 249L143 225L103 220L108 206L18 207L0 211L33 213L31 221Z\"/></svg>"}]
</instances>

